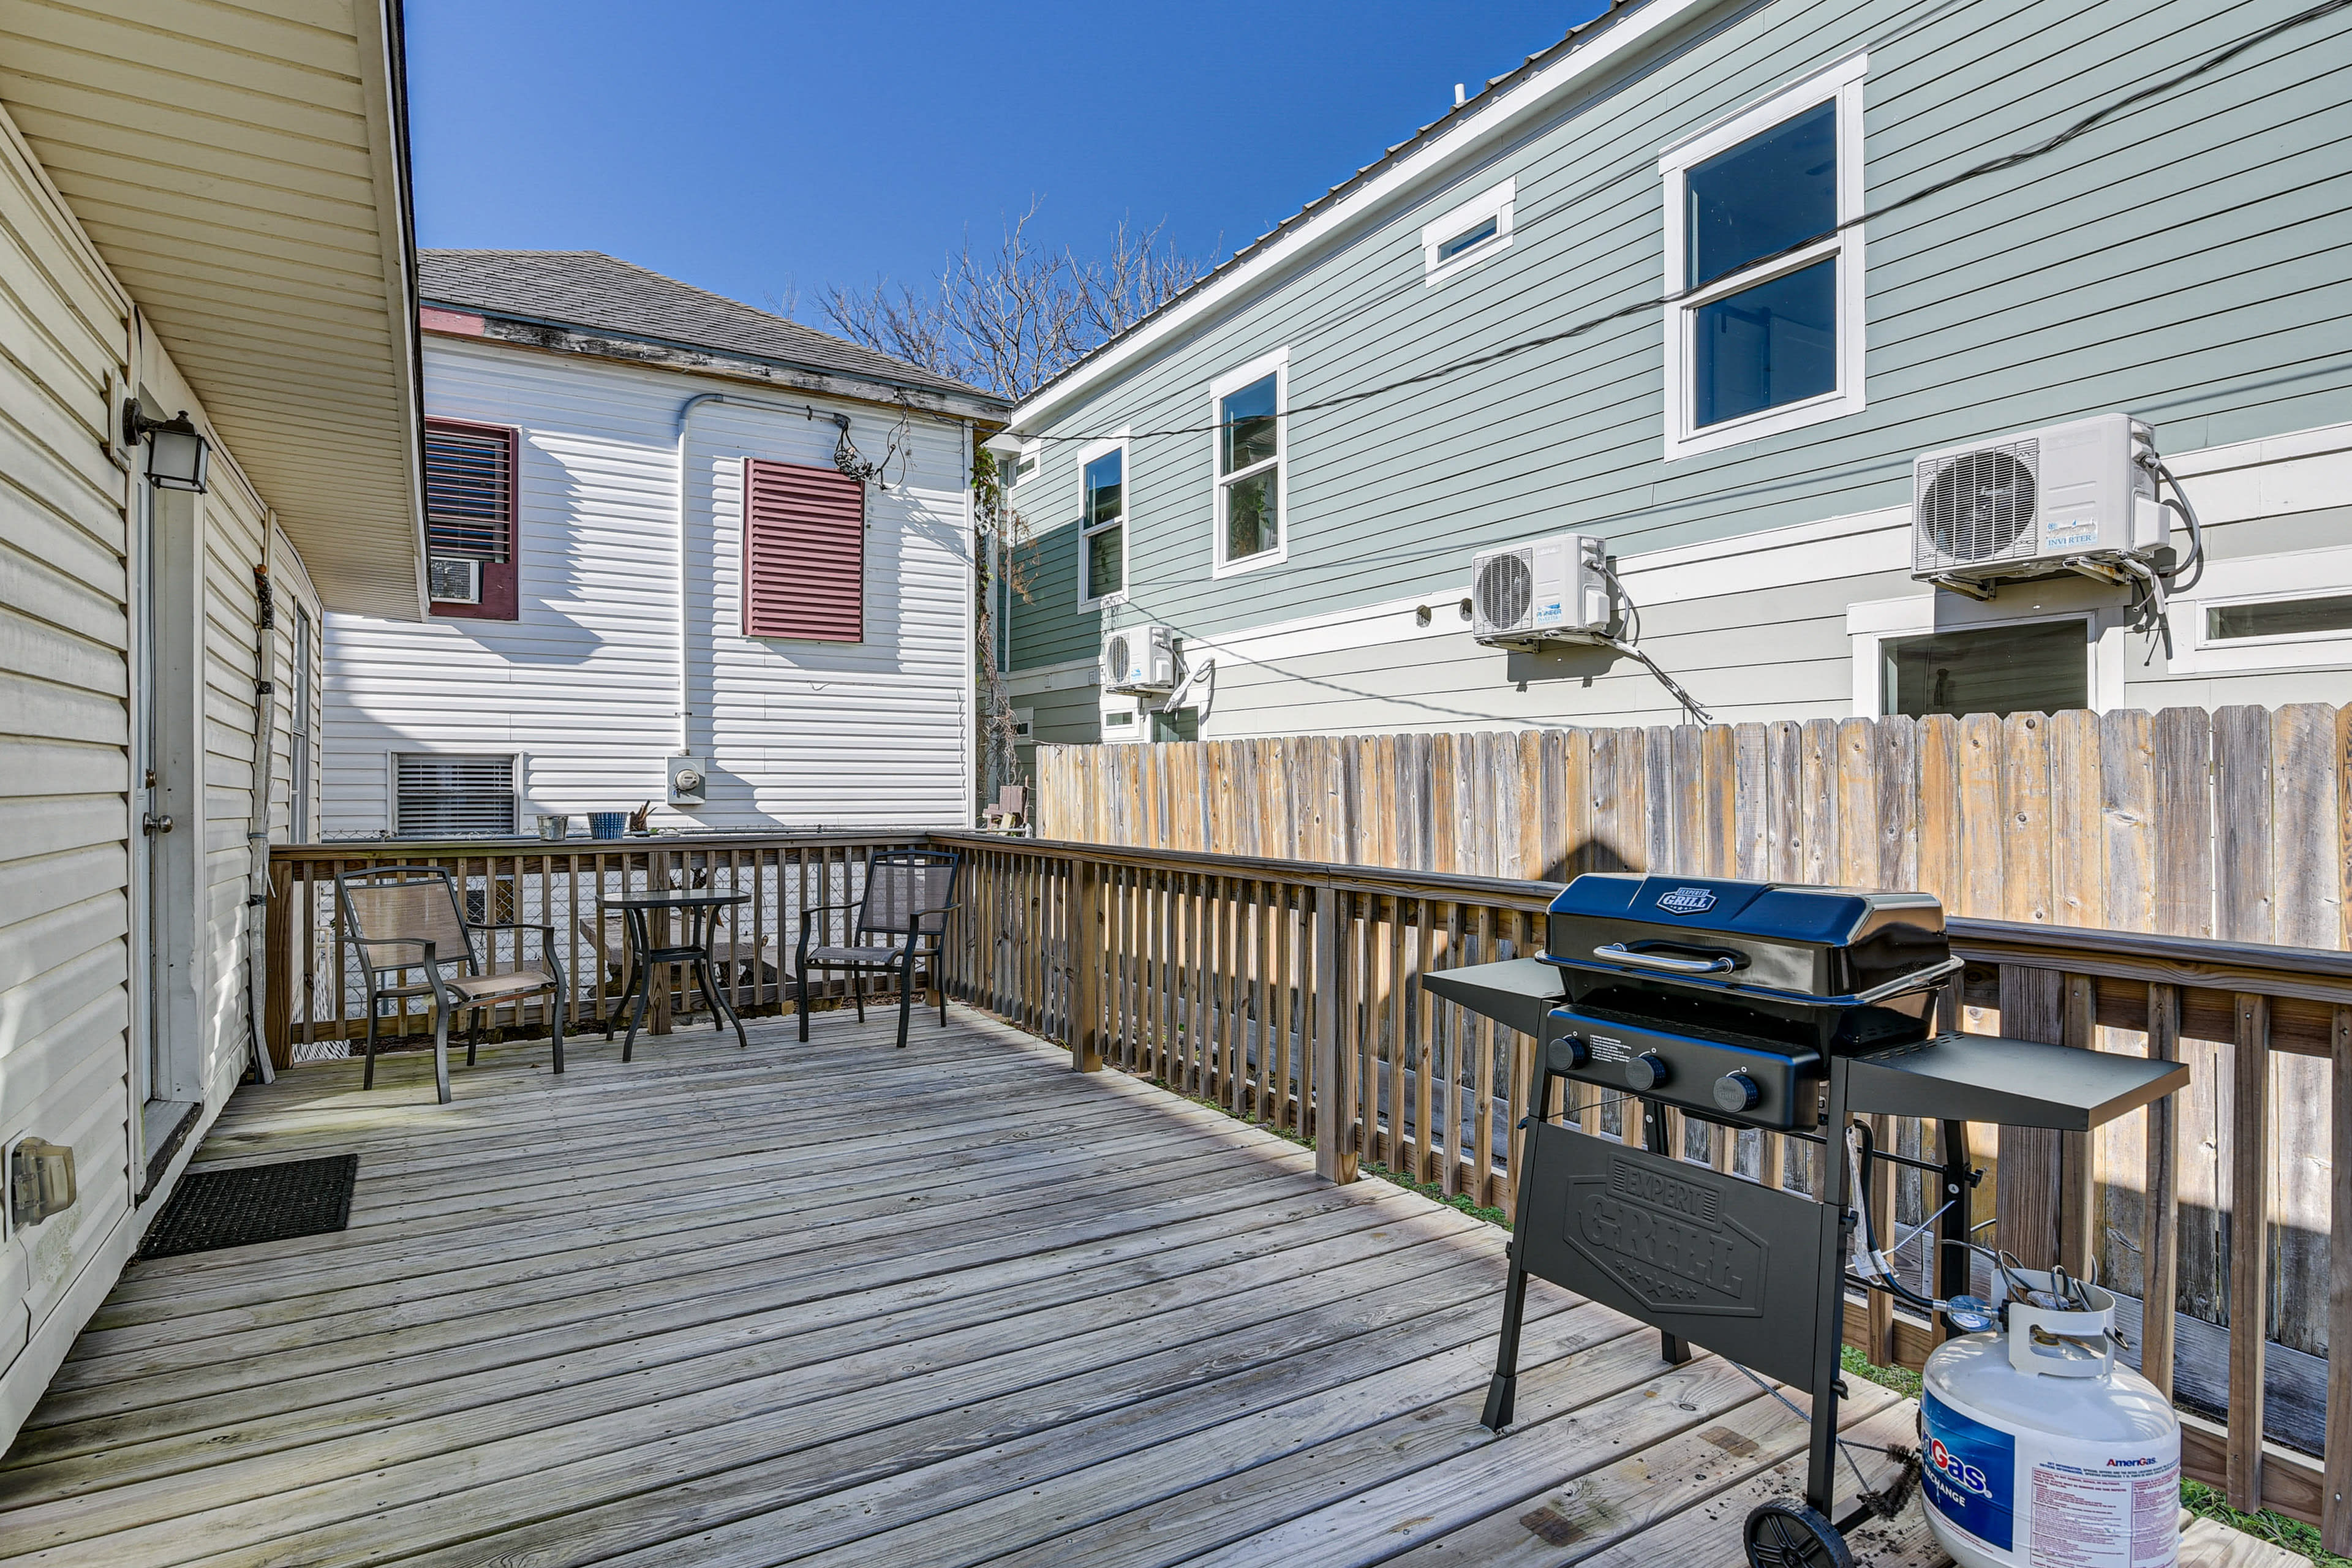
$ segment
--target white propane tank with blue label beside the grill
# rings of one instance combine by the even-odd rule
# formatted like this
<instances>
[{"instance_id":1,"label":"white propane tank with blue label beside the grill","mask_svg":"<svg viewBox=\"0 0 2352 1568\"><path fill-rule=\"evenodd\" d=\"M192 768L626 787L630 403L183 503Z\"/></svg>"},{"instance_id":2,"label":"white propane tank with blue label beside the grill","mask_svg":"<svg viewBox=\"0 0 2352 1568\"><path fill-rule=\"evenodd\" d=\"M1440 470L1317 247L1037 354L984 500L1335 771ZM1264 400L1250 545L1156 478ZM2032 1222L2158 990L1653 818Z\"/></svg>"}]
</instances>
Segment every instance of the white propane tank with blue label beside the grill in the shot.
<instances>
[{"instance_id":1,"label":"white propane tank with blue label beside the grill","mask_svg":"<svg viewBox=\"0 0 2352 1568\"><path fill-rule=\"evenodd\" d=\"M1922 1371L1926 1521L1962 1568L2173 1568L2180 1418L2114 1361L2114 1295L2006 1269ZM1955 1302L1957 1305L1957 1302Z\"/></svg>"}]
</instances>

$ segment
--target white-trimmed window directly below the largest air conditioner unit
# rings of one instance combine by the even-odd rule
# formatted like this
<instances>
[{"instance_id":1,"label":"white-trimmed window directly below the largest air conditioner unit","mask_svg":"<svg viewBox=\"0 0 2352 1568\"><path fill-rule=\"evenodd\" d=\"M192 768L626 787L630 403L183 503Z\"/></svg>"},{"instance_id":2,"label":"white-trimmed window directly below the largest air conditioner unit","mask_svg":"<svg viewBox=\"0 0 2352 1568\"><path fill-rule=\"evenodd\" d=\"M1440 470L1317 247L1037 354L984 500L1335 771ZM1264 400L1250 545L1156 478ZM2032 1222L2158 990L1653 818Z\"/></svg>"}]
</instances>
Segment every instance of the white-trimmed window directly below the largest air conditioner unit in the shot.
<instances>
[{"instance_id":1,"label":"white-trimmed window directly below the largest air conditioner unit","mask_svg":"<svg viewBox=\"0 0 2352 1568\"><path fill-rule=\"evenodd\" d=\"M2124 635L2089 583L2042 604L1915 595L1846 607L1858 717L2103 712L2124 693Z\"/></svg>"}]
</instances>

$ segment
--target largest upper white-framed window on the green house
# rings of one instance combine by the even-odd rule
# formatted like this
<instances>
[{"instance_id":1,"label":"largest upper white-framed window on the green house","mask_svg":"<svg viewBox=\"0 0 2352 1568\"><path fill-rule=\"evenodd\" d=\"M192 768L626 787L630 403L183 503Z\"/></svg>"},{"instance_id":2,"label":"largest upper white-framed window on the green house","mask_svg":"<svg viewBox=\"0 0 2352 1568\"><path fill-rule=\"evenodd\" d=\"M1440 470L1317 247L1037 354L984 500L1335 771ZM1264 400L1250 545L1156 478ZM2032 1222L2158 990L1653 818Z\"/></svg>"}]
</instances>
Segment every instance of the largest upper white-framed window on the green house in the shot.
<instances>
[{"instance_id":1,"label":"largest upper white-framed window on the green house","mask_svg":"<svg viewBox=\"0 0 2352 1568\"><path fill-rule=\"evenodd\" d=\"M1668 148L1665 456L1863 411L1863 71Z\"/></svg>"}]
</instances>

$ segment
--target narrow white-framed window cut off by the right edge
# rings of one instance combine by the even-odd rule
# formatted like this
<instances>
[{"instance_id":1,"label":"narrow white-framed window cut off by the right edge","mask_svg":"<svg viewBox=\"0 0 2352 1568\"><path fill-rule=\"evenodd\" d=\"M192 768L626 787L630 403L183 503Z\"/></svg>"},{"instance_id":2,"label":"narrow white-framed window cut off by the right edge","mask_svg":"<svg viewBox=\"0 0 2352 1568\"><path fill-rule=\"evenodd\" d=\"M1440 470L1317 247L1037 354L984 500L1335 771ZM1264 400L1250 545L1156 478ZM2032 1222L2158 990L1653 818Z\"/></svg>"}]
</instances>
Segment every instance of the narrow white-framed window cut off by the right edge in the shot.
<instances>
[{"instance_id":1,"label":"narrow white-framed window cut off by the right edge","mask_svg":"<svg viewBox=\"0 0 2352 1568\"><path fill-rule=\"evenodd\" d=\"M2352 548L2206 562L2171 623L2173 675L2352 665Z\"/></svg>"}]
</instances>

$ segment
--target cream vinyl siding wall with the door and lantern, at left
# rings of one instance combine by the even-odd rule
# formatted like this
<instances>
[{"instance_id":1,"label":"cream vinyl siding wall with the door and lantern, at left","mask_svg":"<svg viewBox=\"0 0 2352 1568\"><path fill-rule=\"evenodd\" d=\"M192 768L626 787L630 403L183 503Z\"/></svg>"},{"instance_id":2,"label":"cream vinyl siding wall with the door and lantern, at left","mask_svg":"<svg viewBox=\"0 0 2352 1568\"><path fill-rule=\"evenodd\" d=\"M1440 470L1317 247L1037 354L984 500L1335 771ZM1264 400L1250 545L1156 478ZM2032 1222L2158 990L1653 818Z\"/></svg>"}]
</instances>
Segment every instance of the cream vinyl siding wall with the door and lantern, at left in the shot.
<instances>
[{"instance_id":1,"label":"cream vinyl siding wall with the door and lantern, at left","mask_svg":"<svg viewBox=\"0 0 2352 1568\"><path fill-rule=\"evenodd\" d=\"M134 362L129 294L75 216L45 183L16 125L0 113L0 1140L71 1145L80 1194L64 1213L9 1227L0 1241L0 1443L33 1408L87 1314L136 1246L146 1178L141 1107L127 1063L134 1039L129 778L129 548L136 496L111 440L125 388L172 411L202 402L153 334ZM181 496L176 527L188 571L186 646L176 677L193 745L176 788L191 802L174 830L183 856L172 922L186 952L176 971L186 1027L169 1039L174 1081L202 1105L200 1126L245 1070L247 823L254 780L256 592L263 510L235 454L212 456L212 491ZM292 679L285 625L315 597L292 545L278 538L273 682ZM268 757L287 757L280 703ZM169 1182L148 1194L148 1206Z\"/></svg>"}]
</instances>

